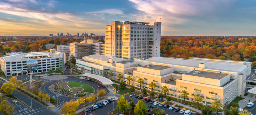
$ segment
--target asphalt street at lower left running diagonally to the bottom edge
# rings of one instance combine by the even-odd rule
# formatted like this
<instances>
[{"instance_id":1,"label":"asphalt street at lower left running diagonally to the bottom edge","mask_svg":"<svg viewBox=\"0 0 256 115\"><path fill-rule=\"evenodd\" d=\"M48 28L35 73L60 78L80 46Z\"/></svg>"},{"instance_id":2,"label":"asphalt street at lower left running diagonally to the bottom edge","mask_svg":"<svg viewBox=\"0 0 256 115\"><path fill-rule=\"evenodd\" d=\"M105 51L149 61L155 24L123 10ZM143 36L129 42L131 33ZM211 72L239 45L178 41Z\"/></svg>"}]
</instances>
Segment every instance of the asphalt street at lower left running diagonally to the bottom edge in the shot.
<instances>
[{"instance_id":1,"label":"asphalt street at lower left running diagonally to the bottom edge","mask_svg":"<svg viewBox=\"0 0 256 115\"><path fill-rule=\"evenodd\" d=\"M16 98L18 98L19 100L23 101L23 103L26 103L28 106L31 105L31 97L23 94L20 91L15 90L14 92L12 92L12 95L15 96ZM19 105L18 105L19 106ZM21 107L24 108L24 107ZM22 110L20 108L20 110ZM32 99L32 109L33 110L29 110L23 113L19 113L16 115L57 115L55 112L53 112L52 110L50 110L48 107L42 105L41 103L37 102L36 100ZM18 112L17 112L18 113Z\"/></svg>"}]
</instances>

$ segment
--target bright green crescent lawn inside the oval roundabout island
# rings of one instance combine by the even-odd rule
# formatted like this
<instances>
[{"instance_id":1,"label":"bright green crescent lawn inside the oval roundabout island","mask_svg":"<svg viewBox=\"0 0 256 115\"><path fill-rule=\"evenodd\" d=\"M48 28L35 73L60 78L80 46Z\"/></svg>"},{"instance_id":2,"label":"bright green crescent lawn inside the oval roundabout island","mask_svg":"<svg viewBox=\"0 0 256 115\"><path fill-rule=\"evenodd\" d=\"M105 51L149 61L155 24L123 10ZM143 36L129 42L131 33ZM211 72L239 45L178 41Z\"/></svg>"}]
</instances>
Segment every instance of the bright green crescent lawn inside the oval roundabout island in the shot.
<instances>
[{"instance_id":1,"label":"bright green crescent lawn inside the oval roundabout island","mask_svg":"<svg viewBox=\"0 0 256 115\"><path fill-rule=\"evenodd\" d=\"M84 88L84 90L82 92L89 92L89 93L93 93L94 92L94 89L91 86L86 85L84 83L80 83L80 82L68 82L68 86L70 88L73 88L73 87Z\"/></svg>"}]
</instances>

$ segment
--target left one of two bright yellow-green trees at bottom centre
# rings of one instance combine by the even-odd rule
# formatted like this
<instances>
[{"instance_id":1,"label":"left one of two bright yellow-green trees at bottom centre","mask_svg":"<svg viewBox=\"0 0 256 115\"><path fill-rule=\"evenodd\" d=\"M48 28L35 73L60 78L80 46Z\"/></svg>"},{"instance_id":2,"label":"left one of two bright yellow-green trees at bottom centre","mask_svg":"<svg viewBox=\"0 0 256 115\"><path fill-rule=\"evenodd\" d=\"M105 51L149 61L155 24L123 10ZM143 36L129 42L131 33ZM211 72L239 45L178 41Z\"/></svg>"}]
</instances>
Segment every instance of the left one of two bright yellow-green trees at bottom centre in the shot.
<instances>
[{"instance_id":1,"label":"left one of two bright yellow-green trees at bottom centre","mask_svg":"<svg viewBox=\"0 0 256 115\"><path fill-rule=\"evenodd\" d=\"M122 95L120 97L120 99L118 99L118 101L117 101L116 110L121 113L127 113L127 112L129 112L129 109L131 110L131 106L129 105L128 101Z\"/></svg>"}]
</instances>

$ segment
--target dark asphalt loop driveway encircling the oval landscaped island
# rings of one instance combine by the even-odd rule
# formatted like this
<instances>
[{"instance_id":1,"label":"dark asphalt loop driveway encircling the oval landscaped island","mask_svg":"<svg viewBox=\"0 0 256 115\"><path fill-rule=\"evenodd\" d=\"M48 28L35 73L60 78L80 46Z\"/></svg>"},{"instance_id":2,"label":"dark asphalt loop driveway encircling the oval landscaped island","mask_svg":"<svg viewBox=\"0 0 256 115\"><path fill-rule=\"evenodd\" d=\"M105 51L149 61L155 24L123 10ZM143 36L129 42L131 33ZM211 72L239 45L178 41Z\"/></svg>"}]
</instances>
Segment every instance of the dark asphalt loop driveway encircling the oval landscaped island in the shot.
<instances>
[{"instance_id":1,"label":"dark asphalt loop driveway encircling the oval landscaped island","mask_svg":"<svg viewBox=\"0 0 256 115\"><path fill-rule=\"evenodd\" d=\"M83 80L83 79L80 79L80 78L76 78L76 77L73 77L72 75L69 74L69 69L66 69L64 71L64 75L66 75L68 78L66 79L63 79L63 80L57 80L57 81L49 81L47 82L46 84L42 85L41 86L41 91L43 91L44 93L47 93L50 95L50 97L55 97L57 99L58 97L58 100L60 101L60 103L58 105L56 105L57 107L61 108L61 106L66 102L66 101L69 101L70 99L74 99L74 97L66 97L66 96L61 96L61 95L57 95L53 92L51 92L49 90L49 86L54 84L54 83L57 83L57 82L61 82L61 81L75 81L75 82L82 82L82 83L85 83L85 84L88 84L90 85L94 90L95 90L95 94L97 93L96 91L97 90L100 90L102 88L104 88L103 85L99 84L99 83L95 83L95 82L91 82L91 81L87 81L87 80ZM97 85L100 85L101 87L98 88ZM106 90L106 94L108 93L109 91ZM82 106L83 104L81 104L80 106Z\"/></svg>"}]
</instances>

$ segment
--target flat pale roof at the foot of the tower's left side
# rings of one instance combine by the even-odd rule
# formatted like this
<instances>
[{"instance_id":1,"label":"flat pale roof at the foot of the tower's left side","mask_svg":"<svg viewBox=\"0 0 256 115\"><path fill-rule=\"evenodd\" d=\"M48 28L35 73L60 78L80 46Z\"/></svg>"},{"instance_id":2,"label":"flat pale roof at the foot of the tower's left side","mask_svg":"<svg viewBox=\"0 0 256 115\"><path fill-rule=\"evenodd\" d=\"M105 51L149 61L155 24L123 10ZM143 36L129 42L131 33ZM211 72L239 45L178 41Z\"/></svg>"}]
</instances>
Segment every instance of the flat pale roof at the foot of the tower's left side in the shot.
<instances>
[{"instance_id":1,"label":"flat pale roof at the foot of the tower's left side","mask_svg":"<svg viewBox=\"0 0 256 115\"><path fill-rule=\"evenodd\" d=\"M99 55L99 54L89 55L89 56L85 56L85 57L86 58L92 58L92 59L95 59L95 60L101 60L101 61L108 61L109 58L112 58L113 61L115 61L115 62L126 60L126 59L123 59L123 58L118 58L118 57L114 57L114 56L110 56L110 55L105 56L105 55Z\"/></svg>"}]
</instances>

